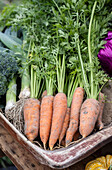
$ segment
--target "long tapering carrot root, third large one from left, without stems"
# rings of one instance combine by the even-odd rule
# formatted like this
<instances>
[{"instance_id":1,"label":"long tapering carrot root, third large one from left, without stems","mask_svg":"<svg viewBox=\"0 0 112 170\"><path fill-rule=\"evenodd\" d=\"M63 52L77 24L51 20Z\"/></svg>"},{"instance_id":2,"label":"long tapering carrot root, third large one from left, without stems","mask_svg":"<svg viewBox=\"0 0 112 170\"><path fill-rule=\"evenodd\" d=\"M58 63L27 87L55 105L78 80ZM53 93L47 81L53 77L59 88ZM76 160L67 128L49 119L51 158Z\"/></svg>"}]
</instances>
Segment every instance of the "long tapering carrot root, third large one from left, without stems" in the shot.
<instances>
[{"instance_id":1,"label":"long tapering carrot root, third large one from left, without stems","mask_svg":"<svg viewBox=\"0 0 112 170\"><path fill-rule=\"evenodd\" d=\"M59 139L66 111L67 111L67 97L64 93L60 92L54 97L53 118L49 139L50 150L53 149L54 144Z\"/></svg>"}]
</instances>

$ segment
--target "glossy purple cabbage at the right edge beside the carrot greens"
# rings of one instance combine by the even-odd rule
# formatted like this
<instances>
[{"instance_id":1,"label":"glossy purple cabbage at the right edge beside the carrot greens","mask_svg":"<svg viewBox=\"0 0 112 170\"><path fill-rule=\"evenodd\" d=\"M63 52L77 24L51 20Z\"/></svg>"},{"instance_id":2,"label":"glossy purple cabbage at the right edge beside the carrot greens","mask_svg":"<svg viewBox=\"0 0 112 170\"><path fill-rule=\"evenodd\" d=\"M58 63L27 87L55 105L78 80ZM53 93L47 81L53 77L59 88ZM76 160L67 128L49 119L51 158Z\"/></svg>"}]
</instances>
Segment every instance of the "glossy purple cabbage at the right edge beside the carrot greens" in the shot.
<instances>
[{"instance_id":1,"label":"glossy purple cabbage at the right edge beside the carrot greens","mask_svg":"<svg viewBox=\"0 0 112 170\"><path fill-rule=\"evenodd\" d=\"M98 58L103 70L112 77L112 32L108 32L108 36L104 39L107 43L98 53Z\"/></svg>"}]
</instances>

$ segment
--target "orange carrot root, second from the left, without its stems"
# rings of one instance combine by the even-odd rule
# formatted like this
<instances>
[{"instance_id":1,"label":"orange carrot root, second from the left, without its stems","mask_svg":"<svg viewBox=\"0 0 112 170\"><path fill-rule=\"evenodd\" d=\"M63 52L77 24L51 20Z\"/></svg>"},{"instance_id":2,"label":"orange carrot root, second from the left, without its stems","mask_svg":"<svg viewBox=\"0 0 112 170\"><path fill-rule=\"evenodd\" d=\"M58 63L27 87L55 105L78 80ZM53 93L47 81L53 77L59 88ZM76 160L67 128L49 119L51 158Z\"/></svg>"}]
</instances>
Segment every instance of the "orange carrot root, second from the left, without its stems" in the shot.
<instances>
[{"instance_id":1,"label":"orange carrot root, second from the left, without its stems","mask_svg":"<svg viewBox=\"0 0 112 170\"><path fill-rule=\"evenodd\" d=\"M44 96L40 109L40 138L43 142L44 148L49 138L51 119L53 114L53 100L54 96Z\"/></svg>"}]
</instances>

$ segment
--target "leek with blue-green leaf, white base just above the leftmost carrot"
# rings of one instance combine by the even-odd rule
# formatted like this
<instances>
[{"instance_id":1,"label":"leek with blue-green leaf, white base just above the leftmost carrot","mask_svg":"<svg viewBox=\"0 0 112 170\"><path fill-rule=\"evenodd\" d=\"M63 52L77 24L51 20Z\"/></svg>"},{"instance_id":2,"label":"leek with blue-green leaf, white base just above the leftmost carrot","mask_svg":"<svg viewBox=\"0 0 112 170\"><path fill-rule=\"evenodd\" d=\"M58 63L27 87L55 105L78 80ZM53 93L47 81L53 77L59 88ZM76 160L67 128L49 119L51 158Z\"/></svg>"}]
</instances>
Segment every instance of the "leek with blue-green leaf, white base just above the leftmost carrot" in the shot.
<instances>
[{"instance_id":1,"label":"leek with blue-green leaf, white base just above the leftmost carrot","mask_svg":"<svg viewBox=\"0 0 112 170\"><path fill-rule=\"evenodd\" d=\"M2 43L18 55L18 59L21 62L21 92L19 98L27 98L30 96L30 75L29 75L29 66L27 64L27 53L23 49L23 42L17 38L17 33L13 31L11 34L11 29L6 29L5 33L0 32L0 40ZM23 33L24 34L24 33ZM24 45L25 46L25 45ZM24 47L25 48L25 47ZM20 71L20 69L19 69Z\"/></svg>"}]
</instances>

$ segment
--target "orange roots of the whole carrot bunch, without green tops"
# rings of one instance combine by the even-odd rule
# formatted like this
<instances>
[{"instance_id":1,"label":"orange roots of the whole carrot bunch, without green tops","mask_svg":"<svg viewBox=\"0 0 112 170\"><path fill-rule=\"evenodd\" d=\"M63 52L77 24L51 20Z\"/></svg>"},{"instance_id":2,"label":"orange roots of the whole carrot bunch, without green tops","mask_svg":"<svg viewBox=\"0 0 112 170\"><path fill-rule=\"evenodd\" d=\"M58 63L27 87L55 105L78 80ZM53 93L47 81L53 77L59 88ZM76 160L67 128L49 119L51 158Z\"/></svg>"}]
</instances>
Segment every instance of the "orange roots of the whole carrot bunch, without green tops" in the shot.
<instances>
[{"instance_id":1,"label":"orange roots of the whole carrot bunch, without green tops","mask_svg":"<svg viewBox=\"0 0 112 170\"><path fill-rule=\"evenodd\" d=\"M42 94L41 103L33 98L26 100L25 135L30 141L39 136L44 149L49 145L52 150L57 143L67 147L81 136L85 138L91 134L95 124L100 130L103 128L104 94L99 94L96 108L93 99L89 99L92 106L88 99L84 101L84 89L76 86L71 102L67 101L65 93L53 96L47 90Z\"/></svg>"}]
</instances>

